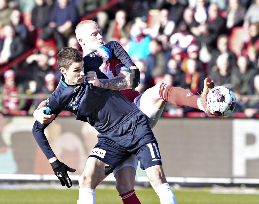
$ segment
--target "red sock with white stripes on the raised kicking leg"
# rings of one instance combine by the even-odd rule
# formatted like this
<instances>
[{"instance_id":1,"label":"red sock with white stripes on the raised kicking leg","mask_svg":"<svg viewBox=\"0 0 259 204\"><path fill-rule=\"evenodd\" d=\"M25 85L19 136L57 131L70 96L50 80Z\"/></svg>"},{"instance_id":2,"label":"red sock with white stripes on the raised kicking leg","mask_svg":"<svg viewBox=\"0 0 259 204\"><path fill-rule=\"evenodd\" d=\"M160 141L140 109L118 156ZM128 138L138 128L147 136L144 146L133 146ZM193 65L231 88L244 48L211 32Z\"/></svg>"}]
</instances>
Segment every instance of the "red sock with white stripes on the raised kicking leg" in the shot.
<instances>
[{"instance_id":1,"label":"red sock with white stripes on the raised kicking leg","mask_svg":"<svg viewBox=\"0 0 259 204\"><path fill-rule=\"evenodd\" d=\"M164 101L171 104L199 109L197 105L197 100L199 97L181 87L161 84L159 95Z\"/></svg>"}]
</instances>

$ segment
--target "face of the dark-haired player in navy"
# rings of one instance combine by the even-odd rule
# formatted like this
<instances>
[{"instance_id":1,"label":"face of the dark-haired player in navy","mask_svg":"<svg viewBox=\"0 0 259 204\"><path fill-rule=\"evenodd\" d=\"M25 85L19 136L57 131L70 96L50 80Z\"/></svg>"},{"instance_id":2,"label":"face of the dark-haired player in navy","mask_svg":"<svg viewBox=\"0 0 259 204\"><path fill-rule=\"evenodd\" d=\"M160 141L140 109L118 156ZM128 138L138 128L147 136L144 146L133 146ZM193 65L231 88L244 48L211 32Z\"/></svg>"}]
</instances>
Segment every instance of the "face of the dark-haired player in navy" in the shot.
<instances>
[{"instance_id":1,"label":"face of the dark-haired player in navy","mask_svg":"<svg viewBox=\"0 0 259 204\"><path fill-rule=\"evenodd\" d=\"M61 68L62 69L62 68ZM82 84L84 81L84 61L73 62L68 70L60 70L68 85Z\"/></svg>"}]
</instances>

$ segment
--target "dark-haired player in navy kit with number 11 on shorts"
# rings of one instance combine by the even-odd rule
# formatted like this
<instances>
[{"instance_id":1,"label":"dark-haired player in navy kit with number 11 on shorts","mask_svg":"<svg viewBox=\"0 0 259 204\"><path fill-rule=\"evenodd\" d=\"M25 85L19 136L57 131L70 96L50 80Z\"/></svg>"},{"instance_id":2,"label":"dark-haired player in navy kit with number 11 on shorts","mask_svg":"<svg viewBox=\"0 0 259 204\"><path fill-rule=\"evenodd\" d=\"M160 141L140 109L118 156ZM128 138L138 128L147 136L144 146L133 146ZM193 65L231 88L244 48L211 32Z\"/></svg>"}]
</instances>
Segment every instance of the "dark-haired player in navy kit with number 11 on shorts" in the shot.
<instances>
[{"instance_id":1,"label":"dark-haired player in navy kit with number 11 on shorts","mask_svg":"<svg viewBox=\"0 0 259 204\"><path fill-rule=\"evenodd\" d=\"M78 50L68 47L62 49L57 56L62 81L47 101L50 113L57 115L62 110L71 111L76 114L76 119L88 122L100 133L98 143L89 155L79 179L77 203L95 203L95 187L131 154L136 155L141 168L146 170L152 187L157 190L162 188L164 194L163 198L160 197L161 203L176 203L171 188L163 188L163 184L167 182L162 171L158 145L146 116L119 91L95 87L85 81L84 75L88 70L84 72L84 63L88 62L87 57L89 60L94 57L98 62L100 57L105 60L107 56L104 51L109 53L105 48L102 46L84 60ZM85 65L92 71L94 66L93 63ZM74 172L75 169L69 168L55 157L44 134L48 125L35 121L33 135L61 184L70 187L72 183L66 172Z\"/></svg>"}]
</instances>

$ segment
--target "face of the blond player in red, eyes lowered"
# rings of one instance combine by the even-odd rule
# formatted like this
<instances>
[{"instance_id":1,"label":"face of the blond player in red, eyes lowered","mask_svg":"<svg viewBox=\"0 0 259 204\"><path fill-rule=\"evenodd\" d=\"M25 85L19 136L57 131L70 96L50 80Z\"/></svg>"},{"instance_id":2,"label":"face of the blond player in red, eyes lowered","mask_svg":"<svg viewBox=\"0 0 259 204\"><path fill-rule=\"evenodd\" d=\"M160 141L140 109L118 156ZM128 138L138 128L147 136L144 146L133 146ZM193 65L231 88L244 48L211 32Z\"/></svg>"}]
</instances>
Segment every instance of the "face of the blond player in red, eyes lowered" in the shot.
<instances>
[{"instance_id":1,"label":"face of the blond player in red, eyes lowered","mask_svg":"<svg viewBox=\"0 0 259 204\"><path fill-rule=\"evenodd\" d=\"M98 24L89 23L84 25L82 29L84 32L83 34L83 41L87 49L94 51L98 47L103 46L103 31L100 29Z\"/></svg>"}]
</instances>

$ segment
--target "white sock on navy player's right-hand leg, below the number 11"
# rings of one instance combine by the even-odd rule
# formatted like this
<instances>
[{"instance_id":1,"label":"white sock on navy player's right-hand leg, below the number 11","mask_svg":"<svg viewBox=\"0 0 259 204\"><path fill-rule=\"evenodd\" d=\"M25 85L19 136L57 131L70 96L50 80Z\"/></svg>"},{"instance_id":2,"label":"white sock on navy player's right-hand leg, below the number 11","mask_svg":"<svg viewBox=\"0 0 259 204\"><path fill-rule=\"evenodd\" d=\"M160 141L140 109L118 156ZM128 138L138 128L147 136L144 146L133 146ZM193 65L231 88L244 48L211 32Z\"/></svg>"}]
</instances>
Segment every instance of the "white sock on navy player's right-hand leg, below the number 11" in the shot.
<instances>
[{"instance_id":1,"label":"white sock on navy player's right-hand leg, below the number 11","mask_svg":"<svg viewBox=\"0 0 259 204\"><path fill-rule=\"evenodd\" d=\"M163 183L157 186L155 192L159 196L161 204L177 204L175 194L168 183Z\"/></svg>"}]
</instances>

